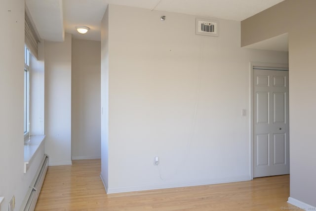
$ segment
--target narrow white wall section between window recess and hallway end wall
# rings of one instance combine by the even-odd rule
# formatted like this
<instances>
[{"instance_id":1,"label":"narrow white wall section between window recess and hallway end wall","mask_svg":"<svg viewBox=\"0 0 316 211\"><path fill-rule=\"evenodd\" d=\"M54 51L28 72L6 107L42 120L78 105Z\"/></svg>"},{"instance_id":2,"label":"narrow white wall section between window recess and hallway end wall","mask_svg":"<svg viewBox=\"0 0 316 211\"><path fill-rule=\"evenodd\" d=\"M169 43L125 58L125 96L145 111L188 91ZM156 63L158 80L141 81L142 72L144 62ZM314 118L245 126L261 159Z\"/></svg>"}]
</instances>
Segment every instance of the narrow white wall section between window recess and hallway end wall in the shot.
<instances>
[{"instance_id":1,"label":"narrow white wall section between window recess and hallway end wall","mask_svg":"<svg viewBox=\"0 0 316 211\"><path fill-rule=\"evenodd\" d=\"M45 42L45 153L49 165L71 165L71 46Z\"/></svg>"}]
</instances>

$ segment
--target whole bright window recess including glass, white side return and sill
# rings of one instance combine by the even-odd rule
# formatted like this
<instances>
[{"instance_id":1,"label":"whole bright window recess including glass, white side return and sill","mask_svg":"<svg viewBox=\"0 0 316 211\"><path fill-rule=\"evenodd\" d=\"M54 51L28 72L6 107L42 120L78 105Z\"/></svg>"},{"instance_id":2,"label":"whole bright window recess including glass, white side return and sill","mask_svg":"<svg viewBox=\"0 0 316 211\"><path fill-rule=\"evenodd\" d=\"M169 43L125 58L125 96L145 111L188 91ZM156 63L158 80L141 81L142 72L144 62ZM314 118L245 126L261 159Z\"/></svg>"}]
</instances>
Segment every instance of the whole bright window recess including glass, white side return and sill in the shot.
<instances>
[{"instance_id":1,"label":"whole bright window recess including glass, white side return and sill","mask_svg":"<svg viewBox=\"0 0 316 211\"><path fill-rule=\"evenodd\" d=\"M43 45L41 45L43 47ZM43 50L43 48L41 48ZM42 51L41 51L42 52ZM26 44L24 48L24 173L44 141L44 60L38 60ZM42 57L41 57L42 58ZM22 68L21 68L22 69ZM20 72L22 74L22 70ZM20 75L22 77L22 75ZM21 82L22 83L22 82ZM22 88L22 87L21 87ZM21 96L22 98L22 96ZM22 99L21 99L22 100ZM22 102L21 102L22 103ZM20 105L22 108L22 105ZM22 121L22 120L21 120Z\"/></svg>"}]
</instances>

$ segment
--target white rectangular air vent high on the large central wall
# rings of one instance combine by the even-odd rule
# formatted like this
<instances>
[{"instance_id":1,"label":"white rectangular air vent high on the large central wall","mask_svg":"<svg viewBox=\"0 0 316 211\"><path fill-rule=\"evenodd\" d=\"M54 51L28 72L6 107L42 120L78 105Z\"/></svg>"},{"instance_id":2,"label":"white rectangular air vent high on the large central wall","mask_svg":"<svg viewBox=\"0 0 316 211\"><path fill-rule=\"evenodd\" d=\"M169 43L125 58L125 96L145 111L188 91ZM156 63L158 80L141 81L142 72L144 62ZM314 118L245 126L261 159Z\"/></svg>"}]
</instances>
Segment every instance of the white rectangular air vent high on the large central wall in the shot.
<instances>
[{"instance_id":1,"label":"white rectangular air vent high on the large central wall","mask_svg":"<svg viewBox=\"0 0 316 211\"><path fill-rule=\"evenodd\" d=\"M218 22L213 20L198 19L196 21L196 34L218 36Z\"/></svg>"}]
</instances>

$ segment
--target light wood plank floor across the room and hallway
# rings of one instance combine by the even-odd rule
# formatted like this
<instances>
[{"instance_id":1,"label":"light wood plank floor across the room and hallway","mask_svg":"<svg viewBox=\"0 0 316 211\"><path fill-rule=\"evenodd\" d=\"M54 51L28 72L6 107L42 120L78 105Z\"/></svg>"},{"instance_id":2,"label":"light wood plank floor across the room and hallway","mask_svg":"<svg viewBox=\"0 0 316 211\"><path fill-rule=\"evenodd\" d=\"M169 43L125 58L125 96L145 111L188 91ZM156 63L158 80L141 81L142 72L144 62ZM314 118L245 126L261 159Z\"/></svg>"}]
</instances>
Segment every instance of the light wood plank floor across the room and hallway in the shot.
<instances>
[{"instance_id":1,"label":"light wood plank floor across the room and hallway","mask_svg":"<svg viewBox=\"0 0 316 211\"><path fill-rule=\"evenodd\" d=\"M107 195L100 160L49 167L37 211L279 211L289 210L289 175L252 181Z\"/></svg>"}]
</instances>

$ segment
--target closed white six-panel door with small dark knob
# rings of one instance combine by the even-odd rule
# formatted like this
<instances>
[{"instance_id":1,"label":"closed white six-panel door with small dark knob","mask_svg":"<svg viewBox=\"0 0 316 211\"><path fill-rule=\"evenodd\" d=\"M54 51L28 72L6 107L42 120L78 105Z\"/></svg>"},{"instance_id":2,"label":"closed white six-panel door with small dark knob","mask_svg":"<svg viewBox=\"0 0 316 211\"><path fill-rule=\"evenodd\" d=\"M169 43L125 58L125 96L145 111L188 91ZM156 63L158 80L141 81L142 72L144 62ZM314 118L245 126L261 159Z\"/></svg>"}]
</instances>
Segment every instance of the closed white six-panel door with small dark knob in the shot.
<instances>
[{"instance_id":1,"label":"closed white six-panel door with small dark knob","mask_svg":"<svg viewBox=\"0 0 316 211\"><path fill-rule=\"evenodd\" d=\"M289 174L288 71L253 69L253 177Z\"/></svg>"}]
</instances>

